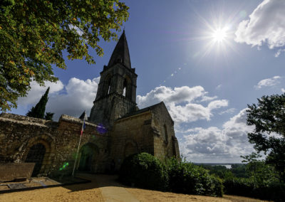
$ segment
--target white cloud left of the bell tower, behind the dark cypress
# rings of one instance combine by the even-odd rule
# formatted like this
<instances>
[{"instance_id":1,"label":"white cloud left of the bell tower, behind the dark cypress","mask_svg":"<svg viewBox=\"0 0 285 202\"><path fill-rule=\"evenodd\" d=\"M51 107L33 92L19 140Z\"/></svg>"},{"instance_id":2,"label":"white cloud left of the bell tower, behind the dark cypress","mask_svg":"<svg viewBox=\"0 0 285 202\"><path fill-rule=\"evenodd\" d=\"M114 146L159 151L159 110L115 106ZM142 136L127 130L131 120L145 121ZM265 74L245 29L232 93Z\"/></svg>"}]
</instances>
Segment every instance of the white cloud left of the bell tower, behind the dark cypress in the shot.
<instances>
[{"instance_id":1,"label":"white cloud left of the bell tower, behind the dark cypress","mask_svg":"<svg viewBox=\"0 0 285 202\"><path fill-rule=\"evenodd\" d=\"M100 78L93 78L93 80L71 78L65 87L61 81L46 84L46 86L51 87L48 94L46 112L54 112L53 120L55 121L62 114L79 117L84 110L89 114L93 106L93 100L95 100L99 80ZM19 99L18 105L22 107L35 105L45 90L46 87L40 87L37 83L31 83L31 91L27 97Z\"/></svg>"}]
</instances>

